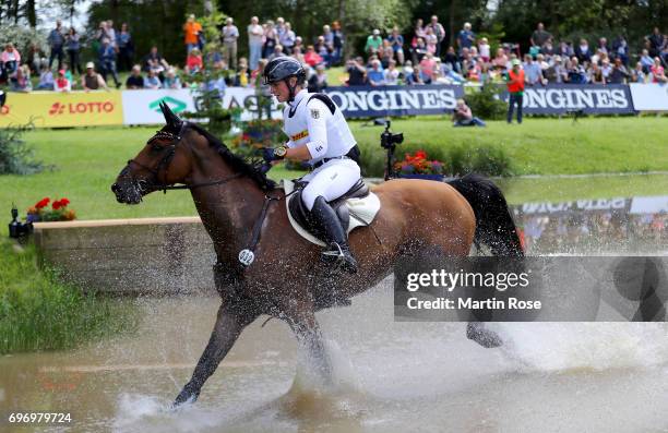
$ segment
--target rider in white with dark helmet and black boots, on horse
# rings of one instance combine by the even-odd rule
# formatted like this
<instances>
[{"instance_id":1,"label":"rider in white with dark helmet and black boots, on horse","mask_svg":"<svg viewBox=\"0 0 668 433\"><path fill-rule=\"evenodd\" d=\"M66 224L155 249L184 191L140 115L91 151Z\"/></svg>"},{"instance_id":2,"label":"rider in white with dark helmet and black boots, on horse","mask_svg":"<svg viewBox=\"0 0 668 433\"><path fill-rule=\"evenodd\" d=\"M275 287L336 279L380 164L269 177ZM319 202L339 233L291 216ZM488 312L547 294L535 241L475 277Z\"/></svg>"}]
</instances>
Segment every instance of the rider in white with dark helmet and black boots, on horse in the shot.
<instances>
[{"instance_id":1,"label":"rider in white with dark helmet and black boots, on horse","mask_svg":"<svg viewBox=\"0 0 668 433\"><path fill-rule=\"evenodd\" d=\"M265 148L263 157L271 163L284 158L308 160L312 171L301 180L308 182L301 200L324 228L329 249L325 262L338 262L349 272L357 272L357 262L334 209L327 202L345 194L361 177L359 148L341 109L326 96L310 94L306 87L306 70L290 57L278 57L264 68L264 83L283 111L285 145Z\"/></svg>"}]
</instances>

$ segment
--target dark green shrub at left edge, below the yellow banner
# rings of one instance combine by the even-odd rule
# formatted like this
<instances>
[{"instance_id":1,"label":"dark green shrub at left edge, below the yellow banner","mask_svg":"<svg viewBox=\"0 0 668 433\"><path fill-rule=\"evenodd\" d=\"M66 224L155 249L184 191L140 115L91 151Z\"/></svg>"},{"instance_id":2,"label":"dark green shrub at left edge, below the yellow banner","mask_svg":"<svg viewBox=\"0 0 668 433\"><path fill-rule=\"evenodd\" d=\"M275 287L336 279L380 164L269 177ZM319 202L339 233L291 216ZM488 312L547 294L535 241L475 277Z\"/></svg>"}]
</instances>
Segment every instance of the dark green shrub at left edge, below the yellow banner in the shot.
<instances>
[{"instance_id":1,"label":"dark green shrub at left edge, below the yellow banner","mask_svg":"<svg viewBox=\"0 0 668 433\"><path fill-rule=\"evenodd\" d=\"M33 159L35 151L21 140L32 129L32 123L0 129L0 175L34 175L52 168Z\"/></svg>"}]
</instances>

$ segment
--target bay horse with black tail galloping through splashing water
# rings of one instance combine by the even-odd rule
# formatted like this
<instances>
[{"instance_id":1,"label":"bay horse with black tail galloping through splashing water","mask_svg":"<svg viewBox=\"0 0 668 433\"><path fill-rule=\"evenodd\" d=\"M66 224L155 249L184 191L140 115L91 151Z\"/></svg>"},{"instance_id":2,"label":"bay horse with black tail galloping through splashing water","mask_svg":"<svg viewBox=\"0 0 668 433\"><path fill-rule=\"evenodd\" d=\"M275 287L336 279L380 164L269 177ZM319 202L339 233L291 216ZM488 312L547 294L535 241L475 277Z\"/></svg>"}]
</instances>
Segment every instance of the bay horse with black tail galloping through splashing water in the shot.
<instances>
[{"instance_id":1,"label":"bay horse with black tail galloping through splashing water","mask_svg":"<svg viewBox=\"0 0 668 433\"><path fill-rule=\"evenodd\" d=\"M111 190L118 202L138 204L154 191L189 189L213 240L214 282L222 304L208 344L175 407L196 400L240 333L261 314L285 321L317 373L326 377L331 365L315 312L335 306L333 299L348 300L373 287L402 257L420 251L466 256L475 242L494 255L524 254L505 199L491 181L476 175L448 183L396 179L373 189L381 209L370 227L350 232L359 272L332 274L321 264L320 246L291 228L285 192L258 164L235 155L198 124L181 121L165 104L160 108L166 125L128 161ZM181 185L174 187L177 183ZM264 221L253 230L261 214ZM254 262L246 267L239 252L253 231L260 241ZM485 347L501 344L481 324L469 323L467 336Z\"/></svg>"}]
</instances>

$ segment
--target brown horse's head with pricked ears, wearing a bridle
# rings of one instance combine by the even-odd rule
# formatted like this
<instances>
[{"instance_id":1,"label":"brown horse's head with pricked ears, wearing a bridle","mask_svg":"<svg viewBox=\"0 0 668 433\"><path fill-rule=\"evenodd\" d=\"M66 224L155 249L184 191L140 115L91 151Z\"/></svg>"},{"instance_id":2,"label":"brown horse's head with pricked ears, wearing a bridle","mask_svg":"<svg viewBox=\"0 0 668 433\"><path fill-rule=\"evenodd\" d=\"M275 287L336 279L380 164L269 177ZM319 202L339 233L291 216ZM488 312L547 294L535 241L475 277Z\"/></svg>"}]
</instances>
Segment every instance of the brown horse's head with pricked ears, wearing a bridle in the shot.
<instances>
[{"instance_id":1,"label":"brown horse's head with pricked ears, wearing a bridle","mask_svg":"<svg viewBox=\"0 0 668 433\"><path fill-rule=\"evenodd\" d=\"M166 185L184 182L191 171L189 148L183 142L187 123L162 103L167 124L128 161L111 185L119 203L138 204Z\"/></svg>"}]
</instances>

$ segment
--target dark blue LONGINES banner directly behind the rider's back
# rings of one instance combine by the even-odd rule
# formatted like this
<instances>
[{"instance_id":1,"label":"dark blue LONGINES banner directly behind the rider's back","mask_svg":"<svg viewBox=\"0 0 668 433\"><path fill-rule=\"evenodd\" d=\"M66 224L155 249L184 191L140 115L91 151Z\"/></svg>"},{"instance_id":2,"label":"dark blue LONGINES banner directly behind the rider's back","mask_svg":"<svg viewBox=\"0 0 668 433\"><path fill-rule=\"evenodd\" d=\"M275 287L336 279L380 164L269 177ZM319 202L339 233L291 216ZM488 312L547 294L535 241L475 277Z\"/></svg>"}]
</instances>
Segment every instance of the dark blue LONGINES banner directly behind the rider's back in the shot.
<instances>
[{"instance_id":1,"label":"dark blue LONGINES banner directly behind the rider's back","mask_svg":"<svg viewBox=\"0 0 668 433\"><path fill-rule=\"evenodd\" d=\"M452 112L464 96L464 87L451 85L327 87L324 92L347 118L443 115Z\"/></svg>"}]
</instances>

